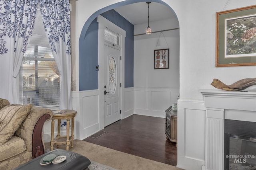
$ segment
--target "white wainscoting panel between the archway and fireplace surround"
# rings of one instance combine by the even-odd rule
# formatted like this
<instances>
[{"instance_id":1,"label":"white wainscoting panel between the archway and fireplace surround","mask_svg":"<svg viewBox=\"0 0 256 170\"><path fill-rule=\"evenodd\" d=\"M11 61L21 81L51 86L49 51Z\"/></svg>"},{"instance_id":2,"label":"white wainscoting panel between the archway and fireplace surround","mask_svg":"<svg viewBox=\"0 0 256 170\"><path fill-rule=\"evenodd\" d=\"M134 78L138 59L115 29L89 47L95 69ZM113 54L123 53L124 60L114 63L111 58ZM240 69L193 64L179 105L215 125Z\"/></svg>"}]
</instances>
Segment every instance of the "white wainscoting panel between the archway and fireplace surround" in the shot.
<instances>
[{"instance_id":1,"label":"white wainscoting panel between the archway and fireplace surround","mask_svg":"<svg viewBox=\"0 0 256 170\"><path fill-rule=\"evenodd\" d=\"M205 112L203 101L178 100L179 168L199 170L204 165Z\"/></svg>"}]
</instances>

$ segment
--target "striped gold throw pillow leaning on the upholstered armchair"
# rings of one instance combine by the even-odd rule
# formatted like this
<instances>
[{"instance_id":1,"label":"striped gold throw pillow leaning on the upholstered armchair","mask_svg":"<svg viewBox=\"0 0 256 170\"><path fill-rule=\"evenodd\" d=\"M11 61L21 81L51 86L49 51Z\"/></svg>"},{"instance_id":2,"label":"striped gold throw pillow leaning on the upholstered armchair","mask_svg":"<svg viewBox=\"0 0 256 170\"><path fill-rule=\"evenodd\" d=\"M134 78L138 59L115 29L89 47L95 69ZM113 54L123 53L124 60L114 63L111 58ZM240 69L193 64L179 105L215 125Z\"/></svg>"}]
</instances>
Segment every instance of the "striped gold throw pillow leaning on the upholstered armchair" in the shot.
<instances>
[{"instance_id":1,"label":"striped gold throw pillow leaning on the upholstered armchair","mask_svg":"<svg viewBox=\"0 0 256 170\"><path fill-rule=\"evenodd\" d=\"M6 143L30 113L32 104L6 106L0 110L0 145Z\"/></svg>"}]
</instances>

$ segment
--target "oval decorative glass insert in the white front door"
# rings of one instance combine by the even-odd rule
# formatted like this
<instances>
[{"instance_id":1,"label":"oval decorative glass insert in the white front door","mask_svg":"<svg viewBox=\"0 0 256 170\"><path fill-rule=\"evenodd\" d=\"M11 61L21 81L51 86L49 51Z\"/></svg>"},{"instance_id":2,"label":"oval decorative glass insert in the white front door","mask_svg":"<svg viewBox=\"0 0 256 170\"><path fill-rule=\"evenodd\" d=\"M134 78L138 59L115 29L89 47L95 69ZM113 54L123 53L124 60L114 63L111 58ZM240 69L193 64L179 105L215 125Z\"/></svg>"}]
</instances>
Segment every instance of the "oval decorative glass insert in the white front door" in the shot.
<instances>
[{"instance_id":1,"label":"oval decorative glass insert in the white front door","mask_svg":"<svg viewBox=\"0 0 256 170\"><path fill-rule=\"evenodd\" d=\"M116 62L113 57L109 61L108 83L111 94L114 94L116 90Z\"/></svg>"}]
</instances>

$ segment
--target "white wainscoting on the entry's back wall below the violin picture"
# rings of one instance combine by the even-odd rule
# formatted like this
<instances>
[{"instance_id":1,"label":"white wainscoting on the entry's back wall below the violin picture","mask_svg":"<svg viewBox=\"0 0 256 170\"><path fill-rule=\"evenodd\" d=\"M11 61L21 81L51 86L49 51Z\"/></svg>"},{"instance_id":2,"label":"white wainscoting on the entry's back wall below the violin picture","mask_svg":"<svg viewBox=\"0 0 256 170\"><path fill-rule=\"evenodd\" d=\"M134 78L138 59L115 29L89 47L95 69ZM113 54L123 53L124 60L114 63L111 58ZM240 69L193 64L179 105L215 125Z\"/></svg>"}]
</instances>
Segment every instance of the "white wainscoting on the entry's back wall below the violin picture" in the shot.
<instances>
[{"instance_id":1,"label":"white wainscoting on the entry's back wall below the violin picture","mask_svg":"<svg viewBox=\"0 0 256 170\"><path fill-rule=\"evenodd\" d=\"M134 87L134 114L165 117L165 110L177 103L178 88Z\"/></svg>"}]
</instances>

